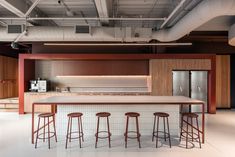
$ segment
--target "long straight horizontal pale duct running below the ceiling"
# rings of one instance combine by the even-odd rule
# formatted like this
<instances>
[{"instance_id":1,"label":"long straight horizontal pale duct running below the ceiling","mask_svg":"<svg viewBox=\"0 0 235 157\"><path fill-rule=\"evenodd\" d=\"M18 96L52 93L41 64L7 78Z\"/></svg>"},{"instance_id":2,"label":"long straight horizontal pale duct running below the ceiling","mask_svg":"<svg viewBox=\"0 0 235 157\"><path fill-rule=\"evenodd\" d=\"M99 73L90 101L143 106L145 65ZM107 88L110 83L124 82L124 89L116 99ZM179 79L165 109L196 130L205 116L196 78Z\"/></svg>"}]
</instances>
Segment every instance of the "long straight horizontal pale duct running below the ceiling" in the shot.
<instances>
[{"instance_id":1,"label":"long straight horizontal pale duct running below the ceiling","mask_svg":"<svg viewBox=\"0 0 235 157\"><path fill-rule=\"evenodd\" d=\"M92 33L74 31L72 26L28 26L27 36L22 36L19 42L148 42L152 34L152 28L135 28L135 33L139 33L139 36L135 37L131 27L92 27ZM8 34L6 28L0 28L0 41L14 41L17 36L18 34Z\"/></svg>"}]
</instances>

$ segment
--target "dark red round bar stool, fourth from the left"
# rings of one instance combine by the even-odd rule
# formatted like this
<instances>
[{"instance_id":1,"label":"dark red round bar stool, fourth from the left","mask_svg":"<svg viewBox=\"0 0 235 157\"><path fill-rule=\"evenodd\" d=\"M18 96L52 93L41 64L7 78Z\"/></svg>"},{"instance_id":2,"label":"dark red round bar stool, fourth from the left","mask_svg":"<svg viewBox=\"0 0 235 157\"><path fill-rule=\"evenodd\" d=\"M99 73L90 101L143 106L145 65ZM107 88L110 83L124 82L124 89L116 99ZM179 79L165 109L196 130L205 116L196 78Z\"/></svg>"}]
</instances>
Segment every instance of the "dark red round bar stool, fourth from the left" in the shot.
<instances>
[{"instance_id":1,"label":"dark red round bar stool, fourth from the left","mask_svg":"<svg viewBox=\"0 0 235 157\"><path fill-rule=\"evenodd\" d=\"M127 148L127 139L130 138L130 139L137 139L138 143L139 143L139 148L141 148L141 145L140 145L140 131L139 131L139 121L138 121L138 117L140 116L139 113L137 112L127 112L125 113L125 116L127 117L127 120L126 120L126 132L124 133L124 136L125 136L125 148ZM129 131L128 130L128 126L129 126L129 118L135 118L136 120L136 131ZM135 137L131 137L131 136L128 136L129 133L135 133L136 136Z\"/></svg>"}]
</instances>

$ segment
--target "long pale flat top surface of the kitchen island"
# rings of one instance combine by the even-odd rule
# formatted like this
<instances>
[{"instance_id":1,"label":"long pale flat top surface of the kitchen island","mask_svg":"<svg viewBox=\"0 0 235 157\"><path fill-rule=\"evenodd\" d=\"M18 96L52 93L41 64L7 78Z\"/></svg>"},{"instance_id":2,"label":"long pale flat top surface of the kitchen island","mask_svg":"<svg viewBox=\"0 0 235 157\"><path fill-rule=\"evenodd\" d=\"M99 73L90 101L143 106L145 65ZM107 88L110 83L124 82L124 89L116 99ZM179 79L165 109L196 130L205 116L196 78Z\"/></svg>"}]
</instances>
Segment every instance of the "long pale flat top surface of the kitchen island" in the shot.
<instances>
[{"instance_id":1,"label":"long pale flat top surface of the kitchen island","mask_svg":"<svg viewBox=\"0 0 235 157\"><path fill-rule=\"evenodd\" d=\"M52 96L34 104L204 104L184 96Z\"/></svg>"}]
</instances>

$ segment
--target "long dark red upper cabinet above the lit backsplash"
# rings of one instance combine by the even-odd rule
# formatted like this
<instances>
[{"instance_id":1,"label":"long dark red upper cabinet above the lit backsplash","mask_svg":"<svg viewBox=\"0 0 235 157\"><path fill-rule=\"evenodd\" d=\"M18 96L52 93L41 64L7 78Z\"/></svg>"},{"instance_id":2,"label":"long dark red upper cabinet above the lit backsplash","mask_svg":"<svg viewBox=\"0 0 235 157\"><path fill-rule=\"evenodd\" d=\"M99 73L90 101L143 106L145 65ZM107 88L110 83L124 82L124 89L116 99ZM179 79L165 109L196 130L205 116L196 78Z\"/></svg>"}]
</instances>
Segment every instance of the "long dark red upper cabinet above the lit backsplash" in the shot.
<instances>
[{"instance_id":1,"label":"long dark red upper cabinet above the lit backsplash","mask_svg":"<svg viewBox=\"0 0 235 157\"><path fill-rule=\"evenodd\" d=\"M51 61L52 77L66 76L66 75L148 75L148 74L149 74L148 60Z\"/></svg>"}]
</instances>

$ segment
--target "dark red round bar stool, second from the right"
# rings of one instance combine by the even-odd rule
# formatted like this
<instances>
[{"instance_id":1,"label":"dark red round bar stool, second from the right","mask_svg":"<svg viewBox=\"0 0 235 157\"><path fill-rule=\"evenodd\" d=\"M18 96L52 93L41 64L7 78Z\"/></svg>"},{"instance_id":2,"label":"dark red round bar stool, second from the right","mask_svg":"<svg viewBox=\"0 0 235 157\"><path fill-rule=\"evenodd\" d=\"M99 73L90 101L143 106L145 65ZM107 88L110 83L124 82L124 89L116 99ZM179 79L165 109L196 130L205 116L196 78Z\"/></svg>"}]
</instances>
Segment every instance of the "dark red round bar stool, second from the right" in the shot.
<instances>
[{"instance_id":1,"label":"dark red round bar stool, second from the right","mask_svg":"<svg viewBox=\"0 0 235 157\"><path fill-rule=\"evenodd\" d=\"M157 148L158 147L158 138L164 138L165 141L168 138L169 145L171 148L171 135L170 135L169 121L168 121L169 114L165 113L165 112L155 112L155 113L153 113L153 115L154 115L154 124L153 124L152 141L154 140L154 137L156 137L156 148ZM163 131L159 131L159 118L163 118L163 126L164 126ZM155 127L156 119L157 119L157 130ZM167 132L166 132L166 125L167 125ZM159 133L163 133L164 137L160 137Z\"/></svg>"}]
</instances>

